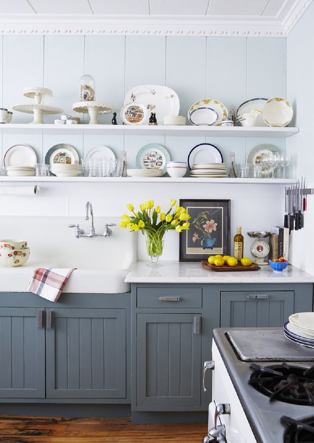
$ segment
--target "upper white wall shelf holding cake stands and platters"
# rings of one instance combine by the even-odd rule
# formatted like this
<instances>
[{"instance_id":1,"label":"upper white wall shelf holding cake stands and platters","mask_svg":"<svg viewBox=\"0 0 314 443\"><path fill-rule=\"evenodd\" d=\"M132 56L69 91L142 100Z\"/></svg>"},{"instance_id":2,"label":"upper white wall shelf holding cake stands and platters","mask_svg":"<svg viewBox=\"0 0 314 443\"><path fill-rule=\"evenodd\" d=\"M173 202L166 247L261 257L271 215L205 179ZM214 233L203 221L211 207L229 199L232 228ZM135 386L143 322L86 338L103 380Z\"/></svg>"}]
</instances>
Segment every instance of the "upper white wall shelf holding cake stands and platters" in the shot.
<instances>
[{"instance_id":1,"label":"upper white wall shelf holding cake stands and platters","mask_svg":"<svg viewBox=\"0 0 314 443\"><path fill-rule=\"evenodd\" d=\"M133 136L212 136L212 137L276 137L287 138L299 132L299 128L268 128L241 126L148 126L123 124L0 124L6 134L90 134Z\"/></svg>"}]
</instances>

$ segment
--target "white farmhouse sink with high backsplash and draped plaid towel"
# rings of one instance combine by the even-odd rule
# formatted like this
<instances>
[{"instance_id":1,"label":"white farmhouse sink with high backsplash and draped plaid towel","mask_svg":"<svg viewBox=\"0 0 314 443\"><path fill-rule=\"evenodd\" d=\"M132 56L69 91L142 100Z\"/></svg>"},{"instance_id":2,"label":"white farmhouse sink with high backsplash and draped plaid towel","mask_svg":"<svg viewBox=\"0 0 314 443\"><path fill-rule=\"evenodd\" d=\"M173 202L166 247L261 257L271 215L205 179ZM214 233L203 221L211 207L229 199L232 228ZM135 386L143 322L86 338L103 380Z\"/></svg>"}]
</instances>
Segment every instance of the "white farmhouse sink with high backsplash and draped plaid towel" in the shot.
<instances>
[{"instance_id":1,"label":"white farmhouse sink with high backsplash and draped plaid towel","mask_svg":"<svg viewBox=\"0 0 314 443\"><path fill-rule=\"evenodd\" d=\"M18 268L0 265L0 291L26 292L35 268L77 268L69 277L64 292L116 294L130 291L126 274L136 261L136 233L119 227L117 217L94 219L96 233L104 223L116 223L111 237L75 237L68 225L79 223L89 231L84 217L0 218L0 237L21 238L28 242L28 262ZM36 229L38 228L38 230Z\"/></svg>"}]
</instances>

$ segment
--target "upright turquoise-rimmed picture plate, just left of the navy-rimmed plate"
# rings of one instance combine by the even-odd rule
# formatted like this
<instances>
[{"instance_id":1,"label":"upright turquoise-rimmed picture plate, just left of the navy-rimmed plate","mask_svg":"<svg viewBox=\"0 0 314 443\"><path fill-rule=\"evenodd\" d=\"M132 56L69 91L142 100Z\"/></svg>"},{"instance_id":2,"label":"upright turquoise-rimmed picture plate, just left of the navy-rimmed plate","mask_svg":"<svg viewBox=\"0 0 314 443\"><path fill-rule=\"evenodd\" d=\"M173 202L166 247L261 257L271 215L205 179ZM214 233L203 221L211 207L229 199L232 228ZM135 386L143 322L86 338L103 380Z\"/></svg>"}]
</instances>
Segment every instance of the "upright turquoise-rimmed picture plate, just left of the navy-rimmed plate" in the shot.
<instances>
[{"instance_id":1,"label":"upright turquoise-rimmed picture plate, just left of the navy-rimmed plate","mask_svg":"<svg viewBox=\"0 0 314 443\"><path fill-rule=\"evenodd\" d=\"M136 167L138 169L161 169L165 174L169 161L169 152L157 143L146 144L136 154Z\"/></svg>"}]
</instances>

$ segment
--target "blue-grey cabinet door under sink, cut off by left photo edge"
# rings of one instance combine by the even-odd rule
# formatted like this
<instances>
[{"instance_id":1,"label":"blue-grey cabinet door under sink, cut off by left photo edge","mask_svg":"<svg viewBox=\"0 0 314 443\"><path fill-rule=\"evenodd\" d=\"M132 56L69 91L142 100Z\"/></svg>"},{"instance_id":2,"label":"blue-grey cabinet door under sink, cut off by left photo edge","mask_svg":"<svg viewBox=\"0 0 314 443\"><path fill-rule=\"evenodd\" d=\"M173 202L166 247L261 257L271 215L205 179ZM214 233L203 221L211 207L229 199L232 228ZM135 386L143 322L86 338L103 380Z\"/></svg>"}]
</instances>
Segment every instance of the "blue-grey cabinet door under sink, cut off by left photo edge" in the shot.
<instances>
[{"instance_id":1,"label":"blue-grey cabinet door under sink, cut off by left photo edge","mask_svg":"<svg viewBox=\"0 0 314 443\"><path fill-rule=\"evenodd\" d=\"M0 397L45 397L45 310L0 308Z\"/></svg>"}]
</instances>

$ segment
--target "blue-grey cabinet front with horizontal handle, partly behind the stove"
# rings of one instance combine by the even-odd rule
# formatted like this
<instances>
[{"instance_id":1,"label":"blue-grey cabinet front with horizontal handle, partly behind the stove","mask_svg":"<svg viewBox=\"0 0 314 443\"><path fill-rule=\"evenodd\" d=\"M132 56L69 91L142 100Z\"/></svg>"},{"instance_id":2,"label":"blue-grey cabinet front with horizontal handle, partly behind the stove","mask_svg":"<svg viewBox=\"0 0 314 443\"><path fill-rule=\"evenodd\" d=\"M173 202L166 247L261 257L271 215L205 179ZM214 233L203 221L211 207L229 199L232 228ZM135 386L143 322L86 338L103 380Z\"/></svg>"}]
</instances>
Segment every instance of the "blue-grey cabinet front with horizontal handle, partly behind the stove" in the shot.
<instances>
[{"instance_id":1,"label":"blue-grey cabinet front with horizontal handle, partly behind the stove","mask_svg":"<svg viewBox=\"0 0 314 443\"><path fill-rule=\"evenodd\" d=\"M280 327L294 312L294 291L222 291L222 328Z\"/></svg>"}]
</instances>

